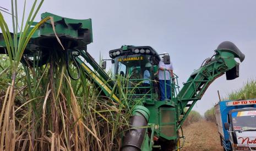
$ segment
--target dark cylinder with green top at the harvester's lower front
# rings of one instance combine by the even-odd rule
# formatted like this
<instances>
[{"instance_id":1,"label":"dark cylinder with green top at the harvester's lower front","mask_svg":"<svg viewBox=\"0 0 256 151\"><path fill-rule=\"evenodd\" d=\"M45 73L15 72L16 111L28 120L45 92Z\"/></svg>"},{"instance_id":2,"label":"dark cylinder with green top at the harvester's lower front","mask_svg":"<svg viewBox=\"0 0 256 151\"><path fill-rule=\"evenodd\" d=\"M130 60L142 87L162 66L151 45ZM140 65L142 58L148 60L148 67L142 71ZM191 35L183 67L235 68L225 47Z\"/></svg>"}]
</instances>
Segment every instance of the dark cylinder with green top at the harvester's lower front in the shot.
<instances>
[{"instance_id":1,"label":"dark cylinder with green top at the harvester's lower front","mask_svg":"<svg viewBox=\"0 0 256 151\"><path fill-rule=\"evenodd\" d=\"M149 110L144 106L136 106L129 120L129 130L123 136L122 151L140 151L149 121Z\"/></svg>"}]
</instances>

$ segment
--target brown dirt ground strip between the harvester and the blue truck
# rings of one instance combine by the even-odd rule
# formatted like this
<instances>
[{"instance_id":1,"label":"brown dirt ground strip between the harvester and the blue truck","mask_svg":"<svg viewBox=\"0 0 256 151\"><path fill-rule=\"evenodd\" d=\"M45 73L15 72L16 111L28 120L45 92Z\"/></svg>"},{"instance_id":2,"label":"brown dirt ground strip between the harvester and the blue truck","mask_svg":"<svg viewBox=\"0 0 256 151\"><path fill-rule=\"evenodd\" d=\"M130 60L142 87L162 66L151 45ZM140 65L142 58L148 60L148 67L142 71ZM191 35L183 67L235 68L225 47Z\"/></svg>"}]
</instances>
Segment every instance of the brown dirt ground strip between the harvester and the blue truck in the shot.
<instances>
[{"instance_id":1,"label":"brown dirt ground strip between the harvester and the blue truck","mask_svg":"<svg viewBox=\"0 0 256 151\"><path fill-rule=\"evenodd\" d=\"M215 123L200 120L187 127L183 127L186 142L184 150L223 150L220 145L220 136Z\"/></svg>"}]
</instances>

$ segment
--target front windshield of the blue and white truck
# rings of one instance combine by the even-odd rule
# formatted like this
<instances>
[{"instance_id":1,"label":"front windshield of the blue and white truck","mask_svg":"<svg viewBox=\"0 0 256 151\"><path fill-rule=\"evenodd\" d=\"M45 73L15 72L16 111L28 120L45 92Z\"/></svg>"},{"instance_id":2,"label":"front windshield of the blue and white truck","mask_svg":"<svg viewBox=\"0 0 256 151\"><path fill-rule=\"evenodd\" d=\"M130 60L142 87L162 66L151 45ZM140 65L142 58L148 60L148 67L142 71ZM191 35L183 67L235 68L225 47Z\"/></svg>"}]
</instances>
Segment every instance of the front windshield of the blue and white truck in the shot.
<instances>
[{"instance_id":1,"label":"front windshield of the blue and white truck","mask_svg":"<svg viewBox=\"0 0 256 151\"><path fill-rule=\"evenodd\" d=\"M235 131L256 131L256 110L232 112Z\"/></svg>"}]
</instances>

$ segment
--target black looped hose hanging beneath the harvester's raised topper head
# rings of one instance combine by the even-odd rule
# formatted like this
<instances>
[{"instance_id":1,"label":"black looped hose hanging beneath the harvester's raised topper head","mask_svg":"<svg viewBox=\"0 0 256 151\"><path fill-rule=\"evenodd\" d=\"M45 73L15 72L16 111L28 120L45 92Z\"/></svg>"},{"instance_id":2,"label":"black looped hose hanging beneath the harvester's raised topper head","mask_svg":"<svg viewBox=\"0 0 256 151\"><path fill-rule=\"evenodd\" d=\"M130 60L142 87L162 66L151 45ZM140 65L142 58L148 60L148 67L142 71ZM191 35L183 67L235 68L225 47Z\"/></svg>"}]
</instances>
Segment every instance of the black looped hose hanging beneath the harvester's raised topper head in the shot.
<instances>
[{"instance_id":1,"label":"black looped hose hanging beneath the harvester's raised topper head","mask_svg":"<svg viewBox=\"0 0 256 151\"><path fill-rule=\"evenodd\" d=\"M73 55L72 53L74 51L78 52L78 54L77 55ZM72 75L70 74L70 71L69 71L69 53L71 53L71 58L72 58L72 61L74 62L74 66L77 67L77 71L78 71L77 78L72 77ZM68 72L69 77L71 79L73 79L73 80L78 80L80 78L80 75L81 75L81 73L80 73L80 66L79 66L77 60L75 60L75 57L74 57L74 56L79 56L79 55L80 55L80 51L77 50L77 49L75 49L75 50L66 50L66 67L67 67L67 72Z\"/></svg>"}]
</instances>

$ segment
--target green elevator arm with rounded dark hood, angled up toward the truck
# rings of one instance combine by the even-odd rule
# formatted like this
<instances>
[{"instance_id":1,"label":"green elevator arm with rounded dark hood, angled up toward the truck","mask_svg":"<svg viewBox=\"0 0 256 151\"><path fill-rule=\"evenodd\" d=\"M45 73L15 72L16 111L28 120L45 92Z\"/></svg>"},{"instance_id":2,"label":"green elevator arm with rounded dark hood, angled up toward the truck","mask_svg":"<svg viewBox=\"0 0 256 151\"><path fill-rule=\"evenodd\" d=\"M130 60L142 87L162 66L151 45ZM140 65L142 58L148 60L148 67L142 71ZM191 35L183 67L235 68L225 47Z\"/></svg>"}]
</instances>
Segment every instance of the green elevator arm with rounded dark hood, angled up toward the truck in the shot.
<instances>
[{"instance_id":1,"label":"green elevator arm with rounded dark hood, angled up toward the truck","mask_svg":"<svg viewBox=\"0 0 256 151\"><path fill-rule=\"evenodd\" d=\"M205 64L195 70L177 95L178 109L182 118L179 127L183 124L194 104L201 99L210 84L226 72L227 80L239 77L239 63L244 60L244 54L232 42L222 42L215 50L215 55L206 60ZM188 107L187 111L184 109Z\"/></svg>"}]
</instances>

